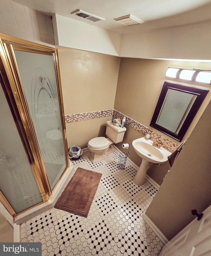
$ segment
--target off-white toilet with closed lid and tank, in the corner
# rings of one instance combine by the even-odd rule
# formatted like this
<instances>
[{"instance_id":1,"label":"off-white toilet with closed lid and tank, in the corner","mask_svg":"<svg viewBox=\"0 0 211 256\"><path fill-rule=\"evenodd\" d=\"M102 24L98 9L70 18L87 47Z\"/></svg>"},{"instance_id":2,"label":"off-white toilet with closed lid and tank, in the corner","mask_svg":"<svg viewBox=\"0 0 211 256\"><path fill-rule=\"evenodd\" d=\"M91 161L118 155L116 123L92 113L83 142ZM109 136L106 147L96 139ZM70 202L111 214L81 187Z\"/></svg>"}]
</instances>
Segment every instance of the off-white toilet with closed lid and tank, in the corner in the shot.
<instances>
[{"instance_id":1,"label":"off-white toilet with closed lid and tank, in the corner","mask_svg":"<svg viewBox=\"0 0 211 256\"><path fill-rule=\"evenodd\" d=\"M106 136L96 137L88 142L88 148L91 152L89 159L92 163L102 161L108 157L113 156L113 144L123 141L126 128L115 126L112 121L106 122Z\"/></svg>"}]
</instances>

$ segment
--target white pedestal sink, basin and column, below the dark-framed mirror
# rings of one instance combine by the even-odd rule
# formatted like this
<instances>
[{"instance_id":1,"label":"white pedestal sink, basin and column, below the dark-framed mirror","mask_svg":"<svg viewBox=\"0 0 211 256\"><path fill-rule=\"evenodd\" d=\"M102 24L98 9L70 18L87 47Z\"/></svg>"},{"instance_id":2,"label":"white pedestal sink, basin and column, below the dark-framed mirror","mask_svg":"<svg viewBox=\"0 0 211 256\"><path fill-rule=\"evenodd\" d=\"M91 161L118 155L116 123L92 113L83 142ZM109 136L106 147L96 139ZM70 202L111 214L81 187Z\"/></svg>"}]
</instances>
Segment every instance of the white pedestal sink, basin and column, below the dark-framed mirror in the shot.
<instances>
[{"instance_id":1,"label":"white pedestal sink, basin and column, below the dark-framed mirror","mask_svg":"<svg viewBox=\"0 0 211 256\"><path fill-rule=\"evenodd\" d=\"M164 147L157 148L153 146L153 141L145 140L145 137L134 140L132 145L136 153L142 158L141 165L134 178L134 183L136 185L142 185L150 164L162 164L167 162L171 152Z\"/></svg>"}]
</instances>

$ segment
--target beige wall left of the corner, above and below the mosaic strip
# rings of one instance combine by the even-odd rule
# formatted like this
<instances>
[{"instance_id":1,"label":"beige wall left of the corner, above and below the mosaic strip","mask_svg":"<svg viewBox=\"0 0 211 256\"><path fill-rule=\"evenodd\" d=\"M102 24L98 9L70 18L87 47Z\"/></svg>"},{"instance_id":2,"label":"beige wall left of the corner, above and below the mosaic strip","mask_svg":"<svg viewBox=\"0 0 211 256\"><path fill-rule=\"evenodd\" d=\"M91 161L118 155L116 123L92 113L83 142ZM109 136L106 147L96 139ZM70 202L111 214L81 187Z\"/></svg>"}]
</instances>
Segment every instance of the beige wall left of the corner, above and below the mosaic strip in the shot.
<instances>
[{"instance_id":1,"label":"beige wall left of the corner, above and below the mosaic strip","mask_svg":"<svg viewBox=\"0 0 211 256\"><path fill-rule=\"evenodd\" d=\"M65 115L113 109L120 58L66 47L57 49ZM84 148L90 139L105 136L104 125L111 119L67 123L68 147Z\"/></svg>"}]
</instances>

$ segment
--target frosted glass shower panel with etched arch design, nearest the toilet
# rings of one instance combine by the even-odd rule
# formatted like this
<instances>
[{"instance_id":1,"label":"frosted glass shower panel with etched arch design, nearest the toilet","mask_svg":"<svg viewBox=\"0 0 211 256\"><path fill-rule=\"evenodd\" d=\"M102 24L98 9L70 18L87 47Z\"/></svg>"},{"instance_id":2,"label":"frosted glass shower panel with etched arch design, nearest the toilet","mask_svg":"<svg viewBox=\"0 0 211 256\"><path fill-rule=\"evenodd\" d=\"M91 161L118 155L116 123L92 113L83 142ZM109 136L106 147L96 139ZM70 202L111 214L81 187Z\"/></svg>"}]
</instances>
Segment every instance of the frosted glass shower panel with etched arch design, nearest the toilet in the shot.
<instances>
[{"instance_id":1,"label":"frosted glass shower panel with etched arch design, nearest the toilet","mask_svg":"<svg viewBox=\"0 0 211 256\"><path fill-rule=\"evenodd\" d=\"M51 190L66 168L53 56L14 50Z\"/></svg>"}]
</instances>

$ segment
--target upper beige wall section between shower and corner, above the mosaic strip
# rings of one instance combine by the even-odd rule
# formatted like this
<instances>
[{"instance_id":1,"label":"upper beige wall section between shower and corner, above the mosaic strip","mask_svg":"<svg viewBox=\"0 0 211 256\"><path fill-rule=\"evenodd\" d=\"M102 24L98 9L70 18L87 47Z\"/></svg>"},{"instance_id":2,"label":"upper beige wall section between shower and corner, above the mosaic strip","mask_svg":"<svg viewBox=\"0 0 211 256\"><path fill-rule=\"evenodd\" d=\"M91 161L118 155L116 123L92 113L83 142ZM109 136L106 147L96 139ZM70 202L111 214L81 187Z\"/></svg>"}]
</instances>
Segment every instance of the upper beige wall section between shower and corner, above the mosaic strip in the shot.
<instances>
[{"instance_id":1,"label":"upper beige wall section between shower and corner, above the mosaic strip","mask_svg":"<svg viewBox=\"0 0 211 256\"><path fill-rule=\"evenodd\" d=\"M120 58L57 48L65 114L113 109Z\"/></svg>"}]
</instances>

